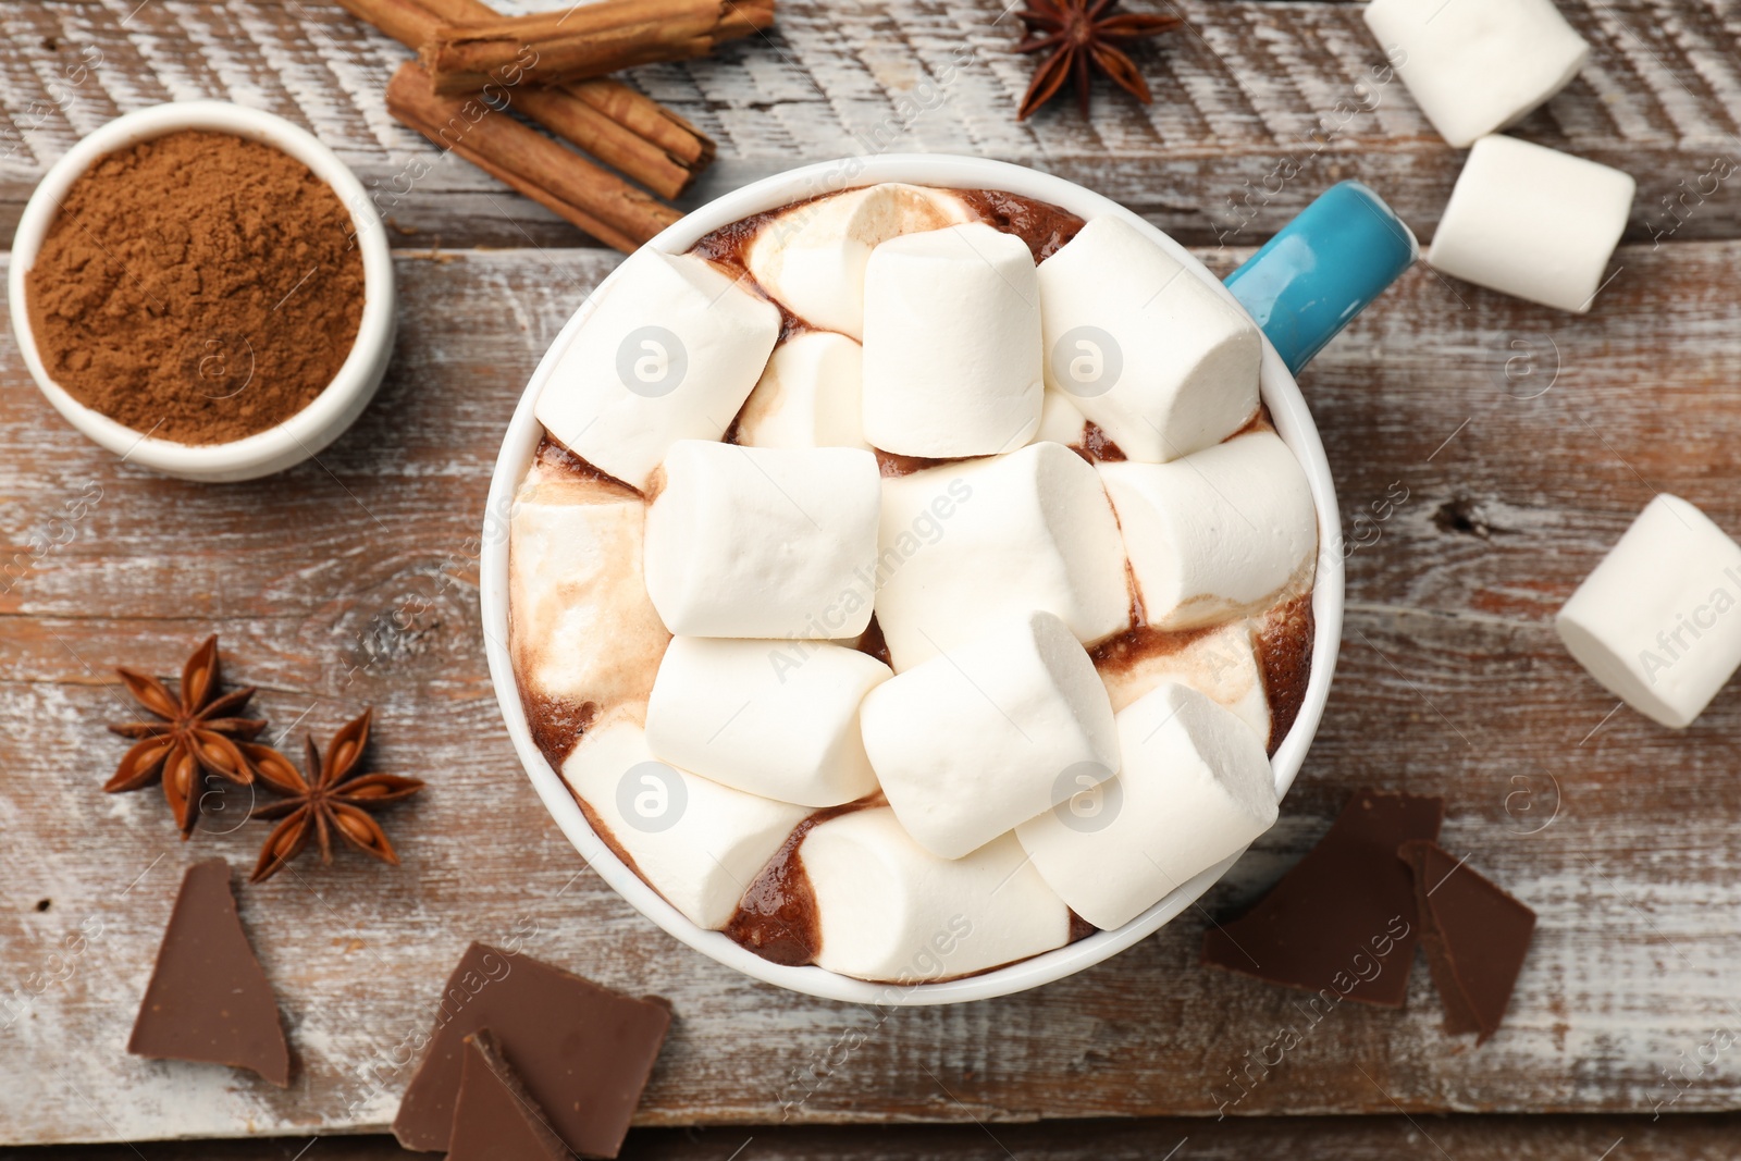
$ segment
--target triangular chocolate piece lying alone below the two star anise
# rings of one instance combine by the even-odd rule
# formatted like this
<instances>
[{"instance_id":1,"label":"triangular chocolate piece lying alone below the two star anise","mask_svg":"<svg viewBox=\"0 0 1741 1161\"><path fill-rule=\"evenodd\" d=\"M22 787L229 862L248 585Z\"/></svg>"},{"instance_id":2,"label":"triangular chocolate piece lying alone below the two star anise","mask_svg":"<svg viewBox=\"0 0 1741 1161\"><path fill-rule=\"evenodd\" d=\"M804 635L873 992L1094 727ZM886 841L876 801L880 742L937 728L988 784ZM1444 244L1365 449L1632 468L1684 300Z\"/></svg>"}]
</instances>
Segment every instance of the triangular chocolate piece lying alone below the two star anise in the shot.
<instances>
[{"instance_id":1,"label":"triangular chocolate piece lying alone below the two star anise","mask_svg":"<svg viewBox=\"0 0 1741 1161\"><path fill-rule=\"evenodd\" d=\"M247 945L230 863L221 858L193 863L181 877L127 1051L252 1069L280 1088L291 1083L279 1003Z\"/></svg>"}]
</instances>

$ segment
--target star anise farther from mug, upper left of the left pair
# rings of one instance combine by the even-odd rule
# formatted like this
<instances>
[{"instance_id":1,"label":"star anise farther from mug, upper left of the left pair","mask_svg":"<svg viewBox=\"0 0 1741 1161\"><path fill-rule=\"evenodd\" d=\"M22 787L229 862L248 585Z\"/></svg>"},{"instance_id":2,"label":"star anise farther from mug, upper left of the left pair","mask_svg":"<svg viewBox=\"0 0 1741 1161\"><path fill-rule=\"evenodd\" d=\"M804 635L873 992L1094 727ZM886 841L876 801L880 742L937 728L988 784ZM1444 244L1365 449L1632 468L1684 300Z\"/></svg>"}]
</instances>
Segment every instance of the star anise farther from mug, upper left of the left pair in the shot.
<instances>
[{"instance_id":1,"label":"star anise farther from mug, upper left of the left pair","mask_svg":"<svg viewBox=\"0 0 1741 1161\"><path fill-rule=\"evenodd\" d=\"M181 667L179 696L164 682L131 668L117 668L127 693L146 712L162 721L110 726L124 738L139 738L120 759L115 776L103 787L110 794L141 790L162 780L164 797L176 815L181 837L193 834L200 818L200 773L216 775L239 785L254 780L256 757L277 754L252 745L266 728L258 717L239 717L254 689L218 695L218 635L205 639Z\"/></svg>"}]
</instances>

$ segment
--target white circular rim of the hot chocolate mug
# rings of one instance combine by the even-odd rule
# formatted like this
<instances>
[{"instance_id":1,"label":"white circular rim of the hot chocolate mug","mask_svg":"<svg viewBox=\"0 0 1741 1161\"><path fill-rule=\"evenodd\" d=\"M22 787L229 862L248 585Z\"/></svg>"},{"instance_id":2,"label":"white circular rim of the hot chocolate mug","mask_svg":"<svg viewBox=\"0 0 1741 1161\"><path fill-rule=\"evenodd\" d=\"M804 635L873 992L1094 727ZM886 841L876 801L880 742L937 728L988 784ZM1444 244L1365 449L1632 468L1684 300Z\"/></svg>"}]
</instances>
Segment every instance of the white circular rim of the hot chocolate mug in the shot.
<instances>
[{"instance_id":1,"label":"white circular rim of the hot chocolate mug","mask_svg":"<svg viewBox=\"0 0 1741 1161\"><path fill-rule=\"evenodd\" d=\"M1193 258L1189 251L1116 202L1111 202L1099 193L1090 193L1078 185L1064 181L1062 178L1053 178L1005 162L989 162L970 157L890 155L877 158L823 162L804 169L794 169L790 172L776 174L749 185L703 205L682 221L677 221L662 232L648 245L672 252L686 251L702 235L738 221L740 218L776 209L818 193L874 185L877 181L1006 190L1010 193L1020 193L1043 202L1052 202L1053 205L1062 205L1064 209L1083 218L1118 214L1142 230L1156 244L1165 247L1196 277L1215 287L1229 303L1238 305L1233 294L1229 294L1215 275ZM641 914L665 928L670 935L677 936L698 952L712 956L719 963L736 968L738 971L743 971L757 980L778 983L780 987L789 987L796 992L808 992L810 996L853 1003L954 1004L970 999L1008 996L1010 992L1020 992L1029 987L1050 983L1052 980L1090 968L1107 956L1125 950L1132 943L1153 935L1166 921L1189 907L1200 895L1203 895L1203 891L1212 888L1234 862L1238 862L1238 855L1234 855L1233 858L1205 870L1196 879L1191 879L1163 898L1160 903L1126 923L1123 928L1114 931L1099 931L1085 940L1034 956L1032 959L1024 959L1022 963L998 968L984 975L944 983L867 983L864 980L823 971L822 968L785 968L768 963L761 956L738 947L719 931L705 931L689 923L670 903L660 898L653 888L644 884L632 870L629 870L629 867L625 867L622 860L618 860L609 848L604 846L599 836L594 834L592 827L587 825L585 815L581 815L580 808L575 804L575 799L569 795L561 776L543 759L538 747L533 745L531 733L526 726L526 714L521 708L521 696L514 682L514 665L508 658L507 527L508 510L514 503L514 491L519 486L521 477L524 477L526 468L531 465L533 454L538 449L538 440L543 433L543 428L533 416L533 402L538 399L540 388L543 388L545 379L561 360L562 352L575 338L580 324L590 313L590 306L597 299L597 294L609 284L611 279L606 279L599 285L599 291L595 291L594 296L575 312L575 317L569 319L566 327L562 327L555 343L552 343L550 350L545 352L543 362L538 364L531 383L526 386L526 393L521 395L521 404L514 411L507 439L501 444L501 454L496 458L496 473L489 486L489 508L484 517L482 538L486 651L489 654L489 674L496 684L496 700L501 703L501 712L508 722L508 735L514 738L514 748L519 752L521 762L526 766L526 773L533 780L533 787L538 789L538 795L543 799L545 808L548 808L548 811L555 816L557 825L562 827L562 834L566 834L569 842L575 844L575 849L578 849L581 856L592 863L594 870L597 870L606 882L616 888L616 891ZM1323 715L1325 700L1330 696L1330 677L1335 672L1337 644L1342 637L1342 554L1339 552L1342 536L1335 507L1335 486L1330 480L1330 465L1325 460L1323 444L1318 440L1318 428L1313 425L1311 414L1306 411L1306 400L1301 397L1299 386L1294 383L1294 376L1288 374L1281 357L1276 355L1274 348L1267 341L1264 343L1262 395L1264 402L1269 404L1276 432L1304 465L1306 475L1311 480L1313 501L1318 507L1320 552L1318 580L1313 594L1316 634L1313 641L1311 681L1306 686L1306 701L1301 707L1299 717L1274 755L1273 766L1276 771L1276 794L1281 795L1294 783L1294 776L1299 773L1301 762L1306 759L1306 748L1311 745L1313 735L1318 729L1318 721Z\"/></svg>"}]
</instances>

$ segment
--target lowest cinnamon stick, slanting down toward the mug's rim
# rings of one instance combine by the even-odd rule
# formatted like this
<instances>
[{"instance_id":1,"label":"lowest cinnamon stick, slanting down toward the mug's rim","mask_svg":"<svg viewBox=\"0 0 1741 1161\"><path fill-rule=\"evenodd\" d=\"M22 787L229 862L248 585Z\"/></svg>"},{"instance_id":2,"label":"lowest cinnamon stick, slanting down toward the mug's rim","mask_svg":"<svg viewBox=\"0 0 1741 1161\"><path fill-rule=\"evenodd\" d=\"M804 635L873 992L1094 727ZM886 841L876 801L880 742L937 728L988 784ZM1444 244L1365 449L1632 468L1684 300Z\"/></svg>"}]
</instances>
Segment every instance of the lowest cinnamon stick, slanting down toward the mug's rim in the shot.
<instances>
[{"instance_id":1,"label":"lowest cinnamon stick, slanting down toward the mug's rim","mask_svg":"<svg viewBox=\"0 0 1741 1161\"><path fill-rule=\"evenodd\" d=\"M491 178L623 252L681 214L475 97L444 97L406 61L387 85L387 111Z\"/></svg>"}]
</instances>

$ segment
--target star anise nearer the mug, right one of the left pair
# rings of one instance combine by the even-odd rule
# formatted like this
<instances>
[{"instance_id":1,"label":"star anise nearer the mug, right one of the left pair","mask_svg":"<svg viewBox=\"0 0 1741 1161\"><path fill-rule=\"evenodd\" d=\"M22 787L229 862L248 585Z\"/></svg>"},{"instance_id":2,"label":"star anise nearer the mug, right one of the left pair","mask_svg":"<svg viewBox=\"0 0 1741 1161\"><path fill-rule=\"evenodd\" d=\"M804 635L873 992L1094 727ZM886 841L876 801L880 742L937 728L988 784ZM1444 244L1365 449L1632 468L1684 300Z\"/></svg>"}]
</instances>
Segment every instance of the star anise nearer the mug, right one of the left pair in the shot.
<instances>
[{"instance_id":1,"label":"star anise nearer the mug, right one of the left pair","mask_svg":"<svg viewBox=\"0 0 1741 1161\"><path fill-rule=\"evenodd\" d=\"M303 853L308 839L320 842L320 862L333 862L333 832L366 855L380 858L383 863L399 865L393 844L387 841L381 823L369 816L376 806L409 799L423 789L421 778L404 778L400 775L362 775L360 759L369 745L369 717L373 710L364 710L362 717L345 724L333 735L326 759L313 736L308 736L308 778L305 780L289 762L263 764L259 782L282 794L282 802L272 802L254 811L254 818L282 818L266 846L259 851L259 862L249 882L265 882L286 863Z\"/></svg>"}]
</instances>

